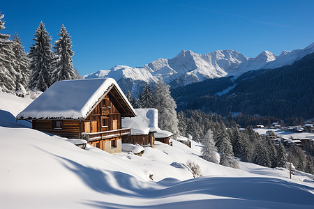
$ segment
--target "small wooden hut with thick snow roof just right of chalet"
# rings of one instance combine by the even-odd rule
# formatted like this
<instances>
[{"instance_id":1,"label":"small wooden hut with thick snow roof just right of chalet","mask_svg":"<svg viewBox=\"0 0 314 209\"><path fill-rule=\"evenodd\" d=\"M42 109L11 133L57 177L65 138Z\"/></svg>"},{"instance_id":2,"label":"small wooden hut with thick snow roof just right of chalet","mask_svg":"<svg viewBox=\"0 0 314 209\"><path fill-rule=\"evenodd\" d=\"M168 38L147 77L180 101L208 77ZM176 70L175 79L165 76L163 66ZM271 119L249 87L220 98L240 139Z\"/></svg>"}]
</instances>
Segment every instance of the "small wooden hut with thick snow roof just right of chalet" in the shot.
<instances>
[{"instance_id":1,"label":"small wooden hut with thick snow roof just right of chalet","mask_svg":"<svg viewBox=\"0 0 314 209\"><path fill-rule=\"evenodd\" d=\"M123 144L154 146L154 133L158 130L158 110L154 108L135 109L134 118L123 118L122 127L130 128L130 135L124 137Z\"/></svg>"}]
</instances>

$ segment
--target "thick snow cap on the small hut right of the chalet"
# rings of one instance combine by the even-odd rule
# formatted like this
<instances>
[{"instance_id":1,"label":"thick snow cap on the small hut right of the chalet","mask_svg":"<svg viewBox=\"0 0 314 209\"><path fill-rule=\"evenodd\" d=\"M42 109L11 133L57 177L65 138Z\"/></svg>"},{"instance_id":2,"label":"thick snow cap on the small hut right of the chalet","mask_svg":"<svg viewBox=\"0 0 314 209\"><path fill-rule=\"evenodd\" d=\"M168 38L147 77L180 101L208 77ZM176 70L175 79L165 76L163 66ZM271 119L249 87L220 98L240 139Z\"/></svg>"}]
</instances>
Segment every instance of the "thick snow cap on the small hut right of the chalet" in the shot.
<instances>
[{"instance_id":1,"label":"thick snow cap on the small hut right of the chalet","mask_svg":"<svg viewBox=\"0 0 314 209\"><path fill-rule=\"evenodd\" d=\"M122 127L129 127L132 135L149 134L158 130L158 110L154 108L135 109L134 118L123 118Z\"/></svg>"}]
</instances>

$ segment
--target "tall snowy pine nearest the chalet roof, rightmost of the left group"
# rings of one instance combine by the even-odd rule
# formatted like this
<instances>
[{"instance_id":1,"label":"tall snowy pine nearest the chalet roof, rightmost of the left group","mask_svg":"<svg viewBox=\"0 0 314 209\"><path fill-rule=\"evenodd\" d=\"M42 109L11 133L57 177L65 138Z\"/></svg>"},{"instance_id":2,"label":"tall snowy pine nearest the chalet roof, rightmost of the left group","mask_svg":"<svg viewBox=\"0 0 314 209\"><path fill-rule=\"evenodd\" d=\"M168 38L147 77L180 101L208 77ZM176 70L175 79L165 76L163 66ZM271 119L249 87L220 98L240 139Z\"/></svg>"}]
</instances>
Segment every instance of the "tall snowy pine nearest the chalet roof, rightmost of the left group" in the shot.
<instances>
[{"instance_id":1,"label":"tall snowy pine nearest the chalet roof, rightmost of the left group","mask_svg":"<svg viewBox=\"0 0 314 209\"><path fill-rule=\"evenodd\" d=\"M72 41L66 31L66 27L62 24L58 40L54 42L54 56L56 56L57 62L54 70L52 71L52 84L61 80L77 79L75 70L73 68L72 56Z\"/></svg>"}]
</instances>

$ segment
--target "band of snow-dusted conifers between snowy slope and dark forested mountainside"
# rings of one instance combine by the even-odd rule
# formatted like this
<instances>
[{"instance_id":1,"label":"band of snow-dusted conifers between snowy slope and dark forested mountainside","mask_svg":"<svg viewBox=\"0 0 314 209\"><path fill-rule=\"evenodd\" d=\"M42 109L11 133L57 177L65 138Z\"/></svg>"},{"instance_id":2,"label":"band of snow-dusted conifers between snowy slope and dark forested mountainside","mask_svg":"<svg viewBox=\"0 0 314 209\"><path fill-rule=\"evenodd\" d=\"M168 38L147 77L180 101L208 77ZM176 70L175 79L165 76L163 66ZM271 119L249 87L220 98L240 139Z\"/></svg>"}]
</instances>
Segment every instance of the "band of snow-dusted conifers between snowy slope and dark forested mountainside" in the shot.
<instances>
[{"instance_id":1,"label":"band of snow-dusted conifers between snowy slope and dark forested mountainside","mask_svg":"<svg viewBox=\"0 0 314 209\"><path fill-rule=\"evenodd\" d=\"M220 164L229 167L237 167L233 156L240 157L244 162L271 168L285 167L289 158L298 170L314 173L314 157L311 152L306 155L299 146L285 147L281 142L274 144L268 137L255 132L252 125L248 125L246 130L240 132L239 125L233 120L195 110L179 112L178 120L182 136L202 142L205 146L203 150L205 159L215 158L209 156L212 155L209 150L213 149L220 153ZM212 132L212 139L208 132ZM211 140L214 143L210 143Z\"/></svg>"}]
</instances>

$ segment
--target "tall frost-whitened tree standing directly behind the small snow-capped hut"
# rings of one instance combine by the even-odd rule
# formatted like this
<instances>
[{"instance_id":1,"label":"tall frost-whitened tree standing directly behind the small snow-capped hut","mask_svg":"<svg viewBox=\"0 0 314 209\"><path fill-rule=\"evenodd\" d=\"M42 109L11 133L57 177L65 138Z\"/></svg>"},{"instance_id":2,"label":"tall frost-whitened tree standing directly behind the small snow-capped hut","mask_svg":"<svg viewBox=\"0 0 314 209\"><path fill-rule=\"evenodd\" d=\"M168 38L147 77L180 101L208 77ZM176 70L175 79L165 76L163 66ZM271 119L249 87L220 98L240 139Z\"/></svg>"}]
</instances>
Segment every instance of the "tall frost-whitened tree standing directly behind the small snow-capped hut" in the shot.
<instances>
[{"instance_id":1,"label":"tall frost-whitened tree standing directly behind the small snow-capped hut","mask_svg":"<svg viewBox=\"0 0 314 209\"><path fill-rule=\"evenodd\" d=\"M154 107L158 109L158 124L163 130L172 132L174 138L179 135L177 104L170 95L170 86L159 79L154 90Z\"/></svg>"}]
</instances>

